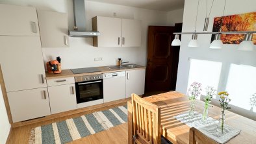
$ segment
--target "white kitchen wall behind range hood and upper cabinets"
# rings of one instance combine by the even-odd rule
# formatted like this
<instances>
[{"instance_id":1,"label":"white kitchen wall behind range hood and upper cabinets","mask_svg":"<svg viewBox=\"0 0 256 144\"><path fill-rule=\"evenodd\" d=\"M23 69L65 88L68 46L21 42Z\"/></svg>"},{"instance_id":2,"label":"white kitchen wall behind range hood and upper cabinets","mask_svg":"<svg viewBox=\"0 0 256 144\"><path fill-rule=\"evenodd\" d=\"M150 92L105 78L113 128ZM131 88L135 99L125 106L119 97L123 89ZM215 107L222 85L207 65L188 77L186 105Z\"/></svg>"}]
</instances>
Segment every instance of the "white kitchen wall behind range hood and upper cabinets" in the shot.
<instances>
[{"instance_id":1,"label":"white kitchen wall behind range hood and upper cabinets","mask_svg":"<svg viewBox=\"0 0 256 144\"><path fill-rule=\"evenodd\" d=\"M54 10L68 13L69 28L73 28L73 3L71 0L0 0L0 3L12 5L31 5L40 10ZM147 27L149 25L166 25L167 12L134 8L129 6L110 5L94 1L86 1L86 28L92 30L94 16L142 20L142 46L141 47L93 47L92 38L70 38L69 48L44 48L45 62L60 56L62 69L79 67L96 67L115 65L117 58L123 58L135 64L146 66L147 56ZM94 62L94 58L101 57L103 61Z\"/></svg>"}]
</instances>

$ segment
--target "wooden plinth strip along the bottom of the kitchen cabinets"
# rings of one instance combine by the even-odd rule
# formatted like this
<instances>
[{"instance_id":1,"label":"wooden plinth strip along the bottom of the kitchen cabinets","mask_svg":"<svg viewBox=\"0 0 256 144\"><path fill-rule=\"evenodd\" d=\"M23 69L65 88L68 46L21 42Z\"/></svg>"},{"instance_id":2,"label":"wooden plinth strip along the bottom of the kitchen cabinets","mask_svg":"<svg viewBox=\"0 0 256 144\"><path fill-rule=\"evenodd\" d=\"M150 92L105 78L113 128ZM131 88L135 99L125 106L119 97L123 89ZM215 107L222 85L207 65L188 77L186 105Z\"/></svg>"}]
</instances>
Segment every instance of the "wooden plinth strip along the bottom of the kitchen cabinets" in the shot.
<instances>
[{"instance_id":1,"label":"wooden plinth strip along the bottom of the kitchen cabinets","mask_svg":"<svg viewBox=\"0 0 256 144\"><path fill-rule=\"evenodd\" d=\"M79 113L82 113L82 112L86 112L88 110L94 110L94 109L97 109L97 108L111 106L111 105L114 105L114 104L121 104L123 102L127 102L127 101L130 101L130 100L131 100L131 98L126 98L126 99L120 99L118 101L106 102L106 103L103 103L103 104L96 104L94 106L88 106L88 107L85 107L85 108L79 108L79 109L76 109L76 110L70 110L70 111L61 112L61 113L58 113L58 114L47 115L45 117L40 117L38 119L31 119L29 121L21 121L21 122L11 123L11 126L12 126L12 128L16 128L16 127L19 127L19 126L31 125L31 124L34 124L34 123L39 123L39 122L42 122L42 121L48 121L48 120L51 120L51 119L65 117L65 116L68 116L68 115L79 114Z\"/></svg>"}]
</instances>

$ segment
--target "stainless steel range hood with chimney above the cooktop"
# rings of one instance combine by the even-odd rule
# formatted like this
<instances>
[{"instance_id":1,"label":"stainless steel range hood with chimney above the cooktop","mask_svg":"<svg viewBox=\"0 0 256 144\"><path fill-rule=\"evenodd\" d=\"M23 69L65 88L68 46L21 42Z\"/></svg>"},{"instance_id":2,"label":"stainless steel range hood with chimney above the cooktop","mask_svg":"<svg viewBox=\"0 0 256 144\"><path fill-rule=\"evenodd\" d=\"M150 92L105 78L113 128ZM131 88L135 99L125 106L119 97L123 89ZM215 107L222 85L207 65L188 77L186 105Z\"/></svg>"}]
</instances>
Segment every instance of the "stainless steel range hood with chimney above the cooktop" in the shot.
<instances>
[{"instance_id":1,"label":"stainless steel range hood with chimney above the cooktop","mask_svg":"<svg viewBox=\"0 0 256 144\"><path fill-rule=\"evenodd\" d=\"M75 27L73 30L68 30L71 37L90 38L99 36L97 31L86 31L86 17L84 0L73 0L74 21Z\"/></svg>"}]
</instances>

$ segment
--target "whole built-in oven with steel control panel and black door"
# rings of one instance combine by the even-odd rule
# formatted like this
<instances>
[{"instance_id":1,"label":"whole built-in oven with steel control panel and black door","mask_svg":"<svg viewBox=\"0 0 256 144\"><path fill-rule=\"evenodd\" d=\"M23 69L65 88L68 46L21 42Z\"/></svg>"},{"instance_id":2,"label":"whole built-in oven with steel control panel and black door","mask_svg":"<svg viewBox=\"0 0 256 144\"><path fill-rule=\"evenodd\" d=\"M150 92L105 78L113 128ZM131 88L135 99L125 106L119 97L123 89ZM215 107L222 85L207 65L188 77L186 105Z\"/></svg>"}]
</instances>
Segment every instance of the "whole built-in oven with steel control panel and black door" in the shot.
<instances>
[{"instance_id":1,"label":"whole built-in oven with steel control panel and black door","mask_svg":"<svg viewBox=\"0 0 256 144\"><path fill-rule=\"evenodd\" d=\"M103 75L75 77L77 104L103 99Z\"/></svg>"}]
</instances>

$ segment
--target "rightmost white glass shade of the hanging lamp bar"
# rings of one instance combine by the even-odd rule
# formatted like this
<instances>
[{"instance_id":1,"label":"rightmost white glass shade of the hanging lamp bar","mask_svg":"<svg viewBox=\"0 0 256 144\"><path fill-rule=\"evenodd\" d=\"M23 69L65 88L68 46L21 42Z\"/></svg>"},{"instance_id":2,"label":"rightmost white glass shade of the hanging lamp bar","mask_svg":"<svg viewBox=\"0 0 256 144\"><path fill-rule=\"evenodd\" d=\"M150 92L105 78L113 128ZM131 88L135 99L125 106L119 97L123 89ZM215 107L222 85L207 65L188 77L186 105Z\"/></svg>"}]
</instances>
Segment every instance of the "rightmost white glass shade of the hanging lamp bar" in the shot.
<instances>
[{"instance_id":1,"label":"rightmost white glass shade of the hanging lamp bar","mask_svg":"<svg viewBox=\"0 0 256 144\"><path fill-rule=\"evenodd\" d=\"M253 34L246 34L244 41L239 44L238 51L253 51Z\"/></svg>"}]
</instances>

